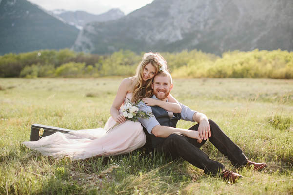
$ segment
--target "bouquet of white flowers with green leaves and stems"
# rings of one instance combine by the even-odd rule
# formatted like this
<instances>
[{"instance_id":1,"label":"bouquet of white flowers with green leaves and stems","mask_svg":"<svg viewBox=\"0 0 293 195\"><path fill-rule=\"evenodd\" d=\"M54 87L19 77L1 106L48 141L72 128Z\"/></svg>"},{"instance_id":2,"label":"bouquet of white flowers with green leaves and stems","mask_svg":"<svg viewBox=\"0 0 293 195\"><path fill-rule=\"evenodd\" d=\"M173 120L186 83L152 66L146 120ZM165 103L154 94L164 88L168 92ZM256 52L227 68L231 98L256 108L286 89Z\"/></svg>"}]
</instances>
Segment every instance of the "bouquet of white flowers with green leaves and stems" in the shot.
<instances>
[{"instance_id":1,"label":"bouquet of white flowers with green leaves and stems","mask_svg":"<svg viewBox=\"0 0 293 195\"><path fill-rule=\"evenodd\" d=\"M135 103L132 103L130 101L130 99L128 99L128 101L123 105L122 107L122 115L124 117L126 117L126 120L131 120L133 122L137 122L139 118L149 118L149 117L152 117L153 114L151 112L144 112L144 111L141 111L139 110L138 108L138 104L140 103L143 103L143 101L137 101ZM121 123L118 123L116 122L116 124L111 127L107 133L109 131L111 131L114 127L117 127L119 124Z\"/></svg>"}]
</instances>

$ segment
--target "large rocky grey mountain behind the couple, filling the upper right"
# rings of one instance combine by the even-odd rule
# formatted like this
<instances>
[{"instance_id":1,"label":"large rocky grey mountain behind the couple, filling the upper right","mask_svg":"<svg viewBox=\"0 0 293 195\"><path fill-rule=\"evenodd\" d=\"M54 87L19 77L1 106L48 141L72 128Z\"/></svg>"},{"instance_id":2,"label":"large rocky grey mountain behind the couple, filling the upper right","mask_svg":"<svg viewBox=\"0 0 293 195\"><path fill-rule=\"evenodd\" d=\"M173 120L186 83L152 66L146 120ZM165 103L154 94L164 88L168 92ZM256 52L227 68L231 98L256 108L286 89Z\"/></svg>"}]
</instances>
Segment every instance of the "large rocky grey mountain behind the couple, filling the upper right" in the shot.
<instances>
[{"instance_id":1,"label":"large rocky grey mountain behind the couple, filling the upper right","mask_svg":"<svg viewBox=\"0 0 293 195\"><path fill-rule=\"evenodd\" d=\"M118 20L86 24L72 49L293 51L292 8L293 0L155 0Z\"/></svg>"}]
</instances>

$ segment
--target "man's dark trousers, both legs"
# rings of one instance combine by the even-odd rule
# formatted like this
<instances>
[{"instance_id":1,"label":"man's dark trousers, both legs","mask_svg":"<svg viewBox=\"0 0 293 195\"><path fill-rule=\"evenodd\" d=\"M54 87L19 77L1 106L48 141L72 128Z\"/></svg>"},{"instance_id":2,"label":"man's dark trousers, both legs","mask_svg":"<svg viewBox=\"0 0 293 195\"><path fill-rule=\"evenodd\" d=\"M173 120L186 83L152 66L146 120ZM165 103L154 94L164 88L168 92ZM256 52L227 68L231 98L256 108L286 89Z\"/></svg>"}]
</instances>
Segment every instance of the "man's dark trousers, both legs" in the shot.
<instances>
[{"instance_id":1,"label":"man's dark trousers, both legs","mask_svg":"<svg viewBox=\"0 0 293 195\"><path fill-rule=\"evenodd\" d=\"M243 151L237 146L221 129L220 127L209 120L211 137L209 141L228 159L234 166L242 166L247 163L247 157ZM197 131L199 124L190 128L190 130ZM209 159L209 156L199 148L206 142L203 140L201 143L197 139L186 137L181 133L175 132L168 136L164 142L159 146L159 150L163 151L166 156L172 159L181 157L192 165L203 169L206 174L217 174L224 165Z\"/></svg>"}]
</instances>

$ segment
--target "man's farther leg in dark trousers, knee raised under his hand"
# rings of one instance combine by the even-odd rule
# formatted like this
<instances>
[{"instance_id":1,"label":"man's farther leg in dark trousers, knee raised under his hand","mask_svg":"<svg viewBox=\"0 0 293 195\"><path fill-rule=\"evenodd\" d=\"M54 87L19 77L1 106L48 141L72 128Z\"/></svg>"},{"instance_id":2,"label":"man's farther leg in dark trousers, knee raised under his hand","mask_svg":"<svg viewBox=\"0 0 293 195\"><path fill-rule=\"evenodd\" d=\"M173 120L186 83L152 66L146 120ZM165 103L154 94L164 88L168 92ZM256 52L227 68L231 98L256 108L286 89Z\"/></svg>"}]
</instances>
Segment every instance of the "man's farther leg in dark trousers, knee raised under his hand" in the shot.
<instances>
[{"instance_id":1,"label":"man's farther leg in dark trousers, knee raised under his hand","mask_svg":"<svg viewBox=\"0 0 293 195\"><path fill-rule=\"evenodd\" d=\"M234 166L242 166L247 164L247 157L244 155L243 151L237 146L221 129L220 127L212 120L209 119L211 137L209 141L228 159ZM199 124L192 126L191 130L198 129ZM188 141L197 147L201 147L205 140L202 143L197 143L196 140L189 138Z\"/></svg>"}]
</instances>

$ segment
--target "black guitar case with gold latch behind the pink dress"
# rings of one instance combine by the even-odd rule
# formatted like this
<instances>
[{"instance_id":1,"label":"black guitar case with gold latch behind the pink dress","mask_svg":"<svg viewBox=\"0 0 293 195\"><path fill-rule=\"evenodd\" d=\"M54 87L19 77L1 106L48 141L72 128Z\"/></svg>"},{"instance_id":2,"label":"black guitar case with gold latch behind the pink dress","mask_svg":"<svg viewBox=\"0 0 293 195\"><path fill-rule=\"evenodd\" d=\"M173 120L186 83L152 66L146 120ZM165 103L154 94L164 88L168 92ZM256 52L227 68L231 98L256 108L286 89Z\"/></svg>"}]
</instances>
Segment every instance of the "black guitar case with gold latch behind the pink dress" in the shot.
<instances>
[{"instance_id":1,"label":"black guitar case with gold latch behind the pink dress","mask_svg":"<svg viewBox=\"0 0 293 195\"><path fill-rule=\"evenodd\" d=\"M42 137L49 136L57 131L61 133L68 133L74 130L48 125L32 124L30 141L38 141Z\"/></svg>"}]
</instances>

